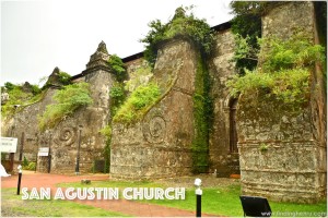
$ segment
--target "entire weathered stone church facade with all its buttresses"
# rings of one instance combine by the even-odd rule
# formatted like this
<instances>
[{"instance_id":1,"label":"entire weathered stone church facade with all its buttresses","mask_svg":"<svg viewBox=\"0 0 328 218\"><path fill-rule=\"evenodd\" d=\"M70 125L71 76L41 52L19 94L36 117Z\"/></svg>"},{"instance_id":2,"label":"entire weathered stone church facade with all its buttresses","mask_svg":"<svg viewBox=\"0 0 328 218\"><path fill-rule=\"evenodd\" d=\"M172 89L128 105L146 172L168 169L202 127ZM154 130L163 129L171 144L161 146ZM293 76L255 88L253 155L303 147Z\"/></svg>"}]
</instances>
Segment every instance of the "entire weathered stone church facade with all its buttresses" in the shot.
<instances>
[{"instance_id":1,"label":"entire weathered stone church facade with all its buttresses","mask_svg":"<svg viewBox=\"0 0 328 218\"><path fill-rule=\"evenodd\" d=\"M285 20L285 17L289 17ZM314 41L316 21L313 2L290 2L262 17L262 35L288 36L292 28L304 26ZM218 177L241 174L244 194L274 199L316 202L326 195L326 95L321 88L298 117L274 111L274 102L249 109L232 97L226 81L236 74L231 58L234 36L231 24L213 27L215 52L207 66L212 78L213 125L209 137L209 172ZM91 172L95 160L103 158L105 138L99 131L110 120L109 90L116 82L106 64L106 46L101 43L91 56L86 70L72 82L91 85L93 104L77 111L55 129L40 133L37 114L43 113L60 84L52 83L42 101L25 107L1 123L2 136L17 137L17 164L22 154L37 161L37 171L75 171L80 145L80 172ZM191 143L195 137L194 102L199 51L184 38L161 45L153 80L161 81L165 96L133 125L113 124L110 177L116 179L155 179L191 173ZM122 59L129 75L143 64L142 53ZM55 69L50 77L56 77ZM313 87L323 81L318 68L313 72ZM56 81L56 80L55 80ZM269 107L270 106L270 107ZM265 113L261 113L266 111ZM257 114L257 116L254 116ZM251 119L250 119L251 118ZM260 144L270 153L261 153ZM38 157L39 147L49 147L48 157ZM50 167L49 167L50 165Z\"/></svg>"}]
</instances>

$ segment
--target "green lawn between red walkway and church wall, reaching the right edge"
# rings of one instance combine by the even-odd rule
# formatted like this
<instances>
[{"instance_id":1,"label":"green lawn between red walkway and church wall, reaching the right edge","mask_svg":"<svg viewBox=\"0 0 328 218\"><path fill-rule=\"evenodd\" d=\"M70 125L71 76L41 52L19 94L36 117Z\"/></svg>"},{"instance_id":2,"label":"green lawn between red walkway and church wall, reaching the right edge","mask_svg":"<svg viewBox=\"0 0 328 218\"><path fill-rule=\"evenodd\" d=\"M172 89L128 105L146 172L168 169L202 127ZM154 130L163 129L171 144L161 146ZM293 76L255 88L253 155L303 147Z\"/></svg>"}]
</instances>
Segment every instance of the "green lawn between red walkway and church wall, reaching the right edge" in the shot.
<instances>
[{"instance_id":1,"label":"green lawn between red walkway and church wall, reaching the right edge","mask_svg":"<svg viewBox=\"0 0 328 218\"><path fill-rule=\"evenodd\" d=\"M83 187L81 183L61 183L61 187ZM95 181L90 186L93 187L165 187L163 184L154 182L121 182L121 181ZM220 216L243 216L243 208L239 201L241 185L224 185L218 187L204 187L202 194L202 213L220 215ZM184 201L140 201L150 204L163 205L167 207L175 207L195 211L196 197L195 189L186 190L186 199ZM292 204L292 203L277 203L270 202L270 207L276 216L323 216L321 213L327 213L327 203L320 202L318 204ZM316 214L320 213L320 214ZM273 214L274 216L274 214Z\"/></svg>"}]
</instances>

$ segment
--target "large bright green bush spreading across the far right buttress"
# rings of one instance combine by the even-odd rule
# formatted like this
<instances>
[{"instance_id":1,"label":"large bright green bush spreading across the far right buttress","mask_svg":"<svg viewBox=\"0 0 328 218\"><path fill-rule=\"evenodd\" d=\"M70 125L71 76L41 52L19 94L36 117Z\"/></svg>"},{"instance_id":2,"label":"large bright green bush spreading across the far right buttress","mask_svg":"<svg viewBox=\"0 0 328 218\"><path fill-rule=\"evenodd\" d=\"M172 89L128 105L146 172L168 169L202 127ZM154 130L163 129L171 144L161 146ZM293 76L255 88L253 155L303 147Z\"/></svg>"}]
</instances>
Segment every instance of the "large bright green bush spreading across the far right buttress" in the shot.
<instances>
[{"instance_id":1,"label":"large bright green bush spreading across the far right buttress","mask_svg":"<svg viewBox=\"0 0 328 218\"><path fill-rule=\"evenodd\" d=\"M235 76L227 86L235 96L273 96L284 106L300 109L309 100L311 70L315 62L325 61L325 48L313 45L302 31L288 40L271 37L260 39L259 44L263 48L259 55L263 60L261 66L246 71L245 76Z\"/></svg>"}]
</instances>

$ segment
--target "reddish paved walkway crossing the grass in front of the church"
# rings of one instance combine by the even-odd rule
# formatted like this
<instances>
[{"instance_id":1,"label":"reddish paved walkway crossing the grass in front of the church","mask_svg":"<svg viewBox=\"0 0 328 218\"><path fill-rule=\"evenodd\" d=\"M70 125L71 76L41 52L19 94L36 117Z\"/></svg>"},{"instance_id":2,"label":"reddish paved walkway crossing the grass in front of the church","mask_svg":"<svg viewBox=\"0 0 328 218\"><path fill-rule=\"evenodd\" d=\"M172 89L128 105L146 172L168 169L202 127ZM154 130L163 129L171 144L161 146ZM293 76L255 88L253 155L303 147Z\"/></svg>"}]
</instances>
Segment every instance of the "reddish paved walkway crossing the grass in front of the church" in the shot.
<instances>
[{"instance_id":1,"label":"reddish paved walkway crossing the grass in front of the church","mask_svg":"<svg viewBox=\"0 0 328 218\"><path fill-rule=\"evenodd\" d=\"M48 174L39 172L25 172L22 178L21 187L50 187L56 190L56 184L62 182L80 182L82 179L91 181L108 180L108 174L86 174L86 175L63 175ZM16 187L17 175L1 178L1 187ZM54 191L51 192L54 193ZM165 206L139 203L127 199L110 201L75 201L81 204L99 207L110 211L118 211L125 215L137 217L195 217L195 211L169 208ZM3 203L3 202L2 202ZM202 214L204 217L213 217L213 215ZM216 216L218 217L218 216Z\"/></svg>"}]
</instances>

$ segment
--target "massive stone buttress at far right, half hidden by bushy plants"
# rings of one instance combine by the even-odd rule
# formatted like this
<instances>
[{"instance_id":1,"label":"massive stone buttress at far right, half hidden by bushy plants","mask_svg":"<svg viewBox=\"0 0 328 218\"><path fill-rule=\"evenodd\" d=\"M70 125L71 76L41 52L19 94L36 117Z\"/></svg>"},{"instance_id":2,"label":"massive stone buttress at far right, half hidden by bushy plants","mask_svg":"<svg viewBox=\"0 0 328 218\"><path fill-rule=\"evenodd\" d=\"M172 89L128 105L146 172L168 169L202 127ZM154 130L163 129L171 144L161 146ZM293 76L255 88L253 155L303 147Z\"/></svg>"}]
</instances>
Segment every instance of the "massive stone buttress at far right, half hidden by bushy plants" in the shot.
<instances>
[{"instance_id":1,"label":"massive stone buttress at far right, half hidden by bushy plants","mask_svg":"<svg viewBox=\"0 0 328 218\"><path fill-rule=\"evenodd\" d=\"M288 38L300 27L314 37L313 2L285 3L262 19L263 37ZM312 80L312 83L317 82ZM256 102L255 96L239 97L237 129L243 194L301 203L318 202L326 196L327 154L326 144L316 136L318 129L323 131L316 122L323 119L315 112L316 94L312 92L309 104L297 113L277 99Z\"/></svg>"}]
</instances>

